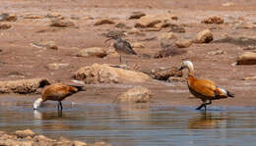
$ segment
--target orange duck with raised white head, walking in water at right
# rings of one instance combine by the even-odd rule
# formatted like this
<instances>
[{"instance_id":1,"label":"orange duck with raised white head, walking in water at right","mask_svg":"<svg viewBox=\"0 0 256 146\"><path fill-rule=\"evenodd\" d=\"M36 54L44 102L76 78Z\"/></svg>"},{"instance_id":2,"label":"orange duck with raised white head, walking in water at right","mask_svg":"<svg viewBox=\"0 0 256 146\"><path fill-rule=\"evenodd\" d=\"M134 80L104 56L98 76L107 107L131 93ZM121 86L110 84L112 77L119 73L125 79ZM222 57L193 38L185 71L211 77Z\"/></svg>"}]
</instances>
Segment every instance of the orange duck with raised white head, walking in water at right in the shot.
<instances>
[{"instance_id":1,"label":"orange duck with raised white head, walking in water at right","mask_svg":"<svg viewBox=\"0 0 256 146\"><path fill-rule=\"evenodd\" d=\"M203 102L196 110L201 110L203 107L206 110L207 105L212 104L212 100L234 97L234 94L216 85L214 81L194 77L194 67L190 61L184 61L181 64L179 71L183 69L188 69L189 71L187 81L189 91Z\"/></svg>"}]
</instances>

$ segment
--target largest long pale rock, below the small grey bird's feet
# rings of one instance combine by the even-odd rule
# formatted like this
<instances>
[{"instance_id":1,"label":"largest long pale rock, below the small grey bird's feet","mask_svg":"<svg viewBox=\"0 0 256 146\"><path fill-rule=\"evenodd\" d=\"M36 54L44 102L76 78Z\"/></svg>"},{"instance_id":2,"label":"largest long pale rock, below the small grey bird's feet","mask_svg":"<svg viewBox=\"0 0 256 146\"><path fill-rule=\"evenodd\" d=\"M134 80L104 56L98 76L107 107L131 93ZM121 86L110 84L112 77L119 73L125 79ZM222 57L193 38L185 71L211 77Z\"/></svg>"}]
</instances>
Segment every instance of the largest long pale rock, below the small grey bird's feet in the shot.
<instances>
[{"instance_id":1,"label":"largest long pale rock, below the small grey bird's feet","mask_svg":"<svg viewBox=\"0 0 256 146\"><path fill-rule=\"evenodd\" d=\"M114 68L107 64L83 67L75 73L74 77L84 80L85 83L146 82L152 79L145 73Z\"/></svg>"}]
</instances>

